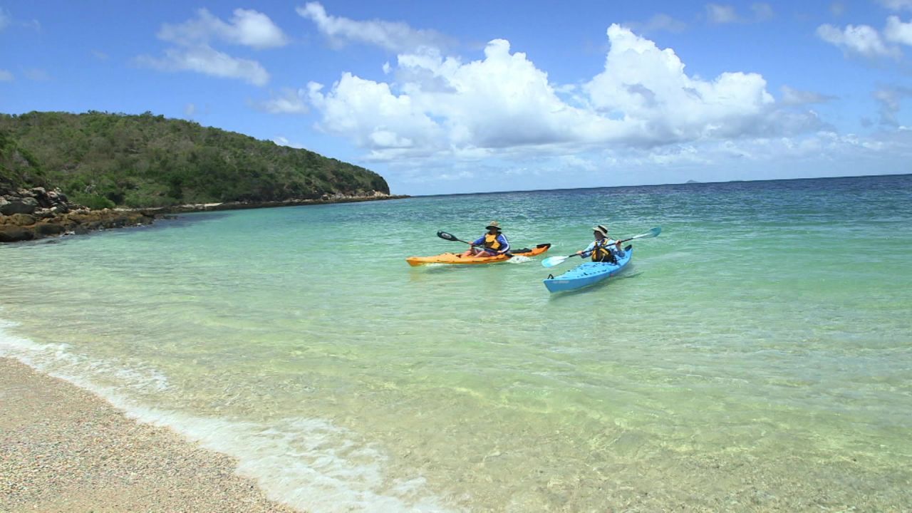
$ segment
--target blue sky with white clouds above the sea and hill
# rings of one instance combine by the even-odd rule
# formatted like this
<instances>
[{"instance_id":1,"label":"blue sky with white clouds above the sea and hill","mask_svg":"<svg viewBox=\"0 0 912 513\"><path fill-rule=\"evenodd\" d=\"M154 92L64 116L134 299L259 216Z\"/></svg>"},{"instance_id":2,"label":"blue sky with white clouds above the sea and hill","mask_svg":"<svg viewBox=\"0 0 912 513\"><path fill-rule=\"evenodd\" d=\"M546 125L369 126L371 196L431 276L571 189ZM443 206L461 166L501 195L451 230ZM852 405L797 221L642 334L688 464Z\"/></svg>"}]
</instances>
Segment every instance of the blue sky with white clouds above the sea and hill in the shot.
<instances>
[{"instance_id":1,"label":"blue sky with white clouds above the sea and hill","mask_svg":"<svg viewBox=\"0 0 912 513\"><path fill-rule=\"evenodd\" d=\"M912 173L912 0L0 0L0 112L168 118L394 194Z\"/></svg>"}]
</instances>

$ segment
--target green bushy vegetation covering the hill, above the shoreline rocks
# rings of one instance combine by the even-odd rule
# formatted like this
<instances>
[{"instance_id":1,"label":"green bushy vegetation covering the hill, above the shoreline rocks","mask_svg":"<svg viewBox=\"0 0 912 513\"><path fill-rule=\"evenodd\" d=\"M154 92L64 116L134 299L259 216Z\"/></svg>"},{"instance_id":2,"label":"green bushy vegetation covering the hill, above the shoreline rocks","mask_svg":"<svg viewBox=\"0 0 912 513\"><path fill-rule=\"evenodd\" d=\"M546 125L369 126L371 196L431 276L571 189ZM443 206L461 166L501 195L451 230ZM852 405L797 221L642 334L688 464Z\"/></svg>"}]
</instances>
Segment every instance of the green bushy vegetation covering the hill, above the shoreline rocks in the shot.
<instances>
[{"instance_id":1,"label":"green bushy vegetation covering the hill, above the shoreline rocks","mask_svg":"<svg viewBox=\"0 0 912 513\"><path fill-rule=\"evenodd\" d=\"M33 186L92 208L389 194L362 167L150 112L0 114L0 189Z\"/></svg>"}]
</instances>

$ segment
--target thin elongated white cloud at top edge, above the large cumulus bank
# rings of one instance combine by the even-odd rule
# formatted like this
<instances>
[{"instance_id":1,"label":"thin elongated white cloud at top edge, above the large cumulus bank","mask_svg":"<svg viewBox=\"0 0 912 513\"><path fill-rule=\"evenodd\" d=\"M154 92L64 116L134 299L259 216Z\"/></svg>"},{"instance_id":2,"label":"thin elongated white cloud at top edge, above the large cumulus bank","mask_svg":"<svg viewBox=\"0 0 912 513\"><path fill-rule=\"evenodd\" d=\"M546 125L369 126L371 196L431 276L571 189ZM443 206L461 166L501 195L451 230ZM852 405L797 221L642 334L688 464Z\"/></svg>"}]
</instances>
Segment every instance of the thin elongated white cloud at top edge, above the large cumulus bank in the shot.
<instances>
[{"instance_id":1,"label":"thin elongated white cloud at top edge, above the large cumulus bank","mask_svg":"<svg viewBox=\"0 0 912 513\"><path fill-rule=\"evenodd\" d=\"M357 21L330 16L319 2L308 2L295 9L298 15L313 20L317 29L337 46L348 42L364 43L389 51L413 51L419 47L446 47L448 38L433 30L420 30L402 22Z\"/></svg>"}]
</instances>

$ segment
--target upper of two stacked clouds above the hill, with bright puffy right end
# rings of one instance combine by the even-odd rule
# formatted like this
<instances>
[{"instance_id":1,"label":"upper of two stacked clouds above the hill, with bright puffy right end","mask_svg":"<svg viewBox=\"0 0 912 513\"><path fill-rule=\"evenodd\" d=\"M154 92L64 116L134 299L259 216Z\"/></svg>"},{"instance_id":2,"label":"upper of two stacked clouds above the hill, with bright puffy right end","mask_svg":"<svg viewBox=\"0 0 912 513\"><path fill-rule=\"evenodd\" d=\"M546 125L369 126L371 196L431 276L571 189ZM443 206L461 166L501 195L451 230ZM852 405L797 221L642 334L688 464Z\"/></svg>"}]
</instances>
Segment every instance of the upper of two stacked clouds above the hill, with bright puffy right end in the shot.
<instances>
[{"instance_id":1,"label":"upper of two stacked clouds above the hill, with bright puffy right end","mask_svg":"<svg viewBox=\"0 0 912 513\"><path fill-rule=\"evenodd\" d=\"M158 37L182 47L208 44L212 39L257 49L288 44L288 37L269 16L248 9L234 9L233 15L231 22L225 23L208 10L200 9L194 19L161 26Z\"/></svg>"}]
</instances>

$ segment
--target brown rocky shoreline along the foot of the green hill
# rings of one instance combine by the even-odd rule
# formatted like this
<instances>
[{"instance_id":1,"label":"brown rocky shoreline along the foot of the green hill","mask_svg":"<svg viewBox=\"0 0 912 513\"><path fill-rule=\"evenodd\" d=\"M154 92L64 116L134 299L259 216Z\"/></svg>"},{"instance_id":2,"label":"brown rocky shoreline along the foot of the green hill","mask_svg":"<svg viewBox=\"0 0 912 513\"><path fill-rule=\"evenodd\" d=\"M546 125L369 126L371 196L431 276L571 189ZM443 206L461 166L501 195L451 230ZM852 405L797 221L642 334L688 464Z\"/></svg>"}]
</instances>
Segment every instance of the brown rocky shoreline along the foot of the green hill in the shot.
<instances>
[{"instance_id":1,"label":"brown rocky shoreline along the foot of the green hill","mask_svg":"<svg viewBox=\"0 0 912 513\"><path fill-rule=\"evenodd\" d=\"M212 204L182 204L150 208L105 208L91 210L70 203L59 189L44 187L0 191L0 243L35 240L48 236L81 235L92 230L150 225L165 215L294 206L301 204L355 203L406 198L405 195L384 194L324 194L318 199L291 199L272 202L226 202Z\"/></svg>"}]
</instances>

